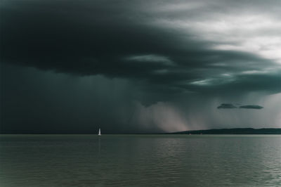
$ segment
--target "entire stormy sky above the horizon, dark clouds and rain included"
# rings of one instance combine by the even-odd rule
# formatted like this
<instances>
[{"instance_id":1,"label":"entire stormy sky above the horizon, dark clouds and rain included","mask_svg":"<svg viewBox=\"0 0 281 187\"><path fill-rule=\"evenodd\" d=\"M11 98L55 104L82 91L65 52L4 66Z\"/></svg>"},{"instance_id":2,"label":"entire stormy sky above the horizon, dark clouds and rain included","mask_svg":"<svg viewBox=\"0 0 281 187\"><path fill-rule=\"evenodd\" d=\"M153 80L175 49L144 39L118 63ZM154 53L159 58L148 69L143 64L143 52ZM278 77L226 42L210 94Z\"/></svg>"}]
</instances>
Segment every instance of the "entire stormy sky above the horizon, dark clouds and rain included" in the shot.
<instances>
[{"instance_id":1,"label":"entire stormy sky above the horizon, dark clouds and rain included","mask_svg":"<svg viewBox=\"0 0 281 187\"><path fill-rule=\"evenodd\" d=\"M281 127L280 0L3 0L0 132Z\"/></svg>"}]
</instances>

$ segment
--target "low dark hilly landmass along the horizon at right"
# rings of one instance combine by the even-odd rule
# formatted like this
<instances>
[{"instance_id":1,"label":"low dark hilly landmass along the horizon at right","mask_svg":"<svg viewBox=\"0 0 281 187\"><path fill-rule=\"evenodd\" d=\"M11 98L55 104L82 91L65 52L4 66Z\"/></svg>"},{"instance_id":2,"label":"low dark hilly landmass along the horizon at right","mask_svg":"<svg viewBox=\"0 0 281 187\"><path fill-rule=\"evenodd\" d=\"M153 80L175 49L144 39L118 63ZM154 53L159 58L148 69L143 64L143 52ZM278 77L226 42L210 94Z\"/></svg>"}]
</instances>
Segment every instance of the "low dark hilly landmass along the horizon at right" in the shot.
<instances>
[{"instance_id":1,"label":"low dark hilly landmass along the horizon at right","mask_svg":"<svg viewBox=\"0 0 281 187\"><path fill-rule=\"evenodd\" d=\"M209 130L195 130L195 131L178 131L170 134L281 134L281 128L209 129Z\"/></svg>"}]
</instances>

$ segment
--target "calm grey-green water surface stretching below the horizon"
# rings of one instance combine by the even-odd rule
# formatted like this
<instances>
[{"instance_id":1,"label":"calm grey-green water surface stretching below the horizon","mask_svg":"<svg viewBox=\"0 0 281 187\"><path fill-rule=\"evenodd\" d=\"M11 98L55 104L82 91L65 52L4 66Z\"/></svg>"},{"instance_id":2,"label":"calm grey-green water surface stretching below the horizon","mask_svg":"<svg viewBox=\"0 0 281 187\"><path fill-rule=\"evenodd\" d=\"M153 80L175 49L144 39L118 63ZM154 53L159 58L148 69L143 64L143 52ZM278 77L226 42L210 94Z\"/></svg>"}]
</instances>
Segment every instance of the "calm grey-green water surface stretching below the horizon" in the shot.
<instances>
[{"instance_id":1,"label":"calm grey-green water surface stretching below the horizon","mask_svg":"<svg viewBox=\"0 0 281 187\"><path fill-rule=\"evenodd\" d=\"M0 186L281 186L281 136L1 135Z\"/></svg>"}]
</instances>

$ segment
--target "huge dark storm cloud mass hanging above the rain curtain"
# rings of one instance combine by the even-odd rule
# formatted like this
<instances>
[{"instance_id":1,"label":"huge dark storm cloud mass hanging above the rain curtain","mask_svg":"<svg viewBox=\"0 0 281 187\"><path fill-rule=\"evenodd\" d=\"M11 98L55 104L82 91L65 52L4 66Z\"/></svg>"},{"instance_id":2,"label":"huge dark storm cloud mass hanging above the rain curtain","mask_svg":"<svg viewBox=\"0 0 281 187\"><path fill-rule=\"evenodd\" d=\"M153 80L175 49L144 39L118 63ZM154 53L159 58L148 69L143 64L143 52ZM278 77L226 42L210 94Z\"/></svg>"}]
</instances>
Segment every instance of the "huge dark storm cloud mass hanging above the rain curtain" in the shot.
<instances>
[{"instance_id":1,"label":"huge dark storm cloud mass hanging above the rain curtain","mask_svg":"<svg viewBox=\"0 0 281 187\"><path fill-rule=\"evenodd\" d=\"M218 8L228 10L223 1L216 2L178 1L181 9L164 1L4 1L1 62L134 79L158 93L280 91L280 70L261 72L279 67L274 60L212 48L232 43L216 36L200 39L196 25L181 28L216 16L211 12Z\"/></svg>"}]
</instances>

